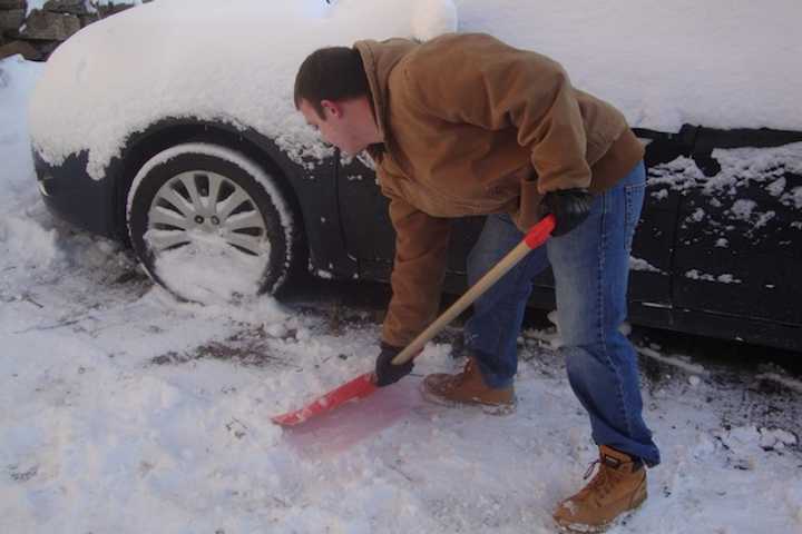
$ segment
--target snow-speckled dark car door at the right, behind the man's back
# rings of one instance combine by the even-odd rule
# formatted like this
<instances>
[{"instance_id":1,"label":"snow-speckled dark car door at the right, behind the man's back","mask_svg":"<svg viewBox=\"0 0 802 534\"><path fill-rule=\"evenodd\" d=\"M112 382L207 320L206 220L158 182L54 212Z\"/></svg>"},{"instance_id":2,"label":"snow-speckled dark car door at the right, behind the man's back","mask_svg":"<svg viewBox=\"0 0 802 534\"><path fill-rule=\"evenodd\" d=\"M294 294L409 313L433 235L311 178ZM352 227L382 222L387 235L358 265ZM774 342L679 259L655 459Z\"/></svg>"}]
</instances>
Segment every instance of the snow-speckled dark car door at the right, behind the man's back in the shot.
<instances>
[{"instance_id":1,"label":"snow-speckled dark car door at the right, behind the man's back","mask_svg":"<svg viewBox=\"0 0 802 534\"><path fill-rule=\"evenodd\" d=\"M802 325L802 134L700 128L674 189L678 308Z\"/></svg>"}]
</instances>

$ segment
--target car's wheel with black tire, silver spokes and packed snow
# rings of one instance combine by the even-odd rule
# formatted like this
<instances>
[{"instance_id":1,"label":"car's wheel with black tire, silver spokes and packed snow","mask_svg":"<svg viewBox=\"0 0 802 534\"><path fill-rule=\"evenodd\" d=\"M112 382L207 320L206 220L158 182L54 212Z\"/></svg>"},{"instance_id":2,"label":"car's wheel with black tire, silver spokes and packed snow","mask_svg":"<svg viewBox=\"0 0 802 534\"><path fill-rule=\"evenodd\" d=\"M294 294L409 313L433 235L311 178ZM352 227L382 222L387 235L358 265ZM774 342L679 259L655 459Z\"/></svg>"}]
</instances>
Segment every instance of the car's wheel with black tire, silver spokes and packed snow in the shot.
<instances>
[{"instance_id":1,"label":"car's wheel with black tire, silver spokes and packed snow","mask_svg":"<svg viewBox=\"0 0 802 534\"><path fill-rule=\"evenodd\" d=\"M178 145L137 172L128 235L148 275L180 299L275 293L296 259L296 227L276 181L239 152Z\"/></svg>"}]
</instances>

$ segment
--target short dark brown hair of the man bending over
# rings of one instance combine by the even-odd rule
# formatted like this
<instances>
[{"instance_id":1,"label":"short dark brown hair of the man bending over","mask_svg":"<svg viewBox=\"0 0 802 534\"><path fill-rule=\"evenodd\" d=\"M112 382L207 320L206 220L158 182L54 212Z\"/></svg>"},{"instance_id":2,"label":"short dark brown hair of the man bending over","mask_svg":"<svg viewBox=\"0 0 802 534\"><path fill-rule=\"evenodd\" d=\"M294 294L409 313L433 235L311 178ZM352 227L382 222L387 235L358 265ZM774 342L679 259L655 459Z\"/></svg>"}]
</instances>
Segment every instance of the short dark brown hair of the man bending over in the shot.
<instances>
[{"instance_id":1,"label":"short dark brown hair of the man bending over","mask_svg":"<svg viewBox=\"0 0 802 534\"><path fill-rule=\"evenodd\" d=\"M323 117L322 100L343 100L369 92L362 57L353 48L315 50L295 75L295 109L301 107L301 100L306 100L320 117Z\"/></svg>"}]
</instances>

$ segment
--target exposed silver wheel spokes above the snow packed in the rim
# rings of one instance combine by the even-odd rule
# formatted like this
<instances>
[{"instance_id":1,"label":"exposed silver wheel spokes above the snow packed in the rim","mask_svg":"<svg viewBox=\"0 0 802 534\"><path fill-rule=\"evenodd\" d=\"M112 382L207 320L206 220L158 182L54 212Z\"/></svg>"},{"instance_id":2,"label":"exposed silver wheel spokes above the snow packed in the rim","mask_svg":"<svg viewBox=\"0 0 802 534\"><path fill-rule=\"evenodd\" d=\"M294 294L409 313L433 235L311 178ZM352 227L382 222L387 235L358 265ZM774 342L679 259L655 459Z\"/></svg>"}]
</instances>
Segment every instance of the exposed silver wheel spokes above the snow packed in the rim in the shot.
<instances>
[{"instance_id":1,"label":"exposed silver wheel spokes above the snow packed in the rim","mask_svg":"<svg viewBox=\"0 0 802 534\"><path fill-rule=\"evenodd\" d=\"M174 176L156 192L148 211L153 251L197 240L222 240L268 260L264 219L251 195L225 176L205 170Z\"/></svg>"}]
</instances>

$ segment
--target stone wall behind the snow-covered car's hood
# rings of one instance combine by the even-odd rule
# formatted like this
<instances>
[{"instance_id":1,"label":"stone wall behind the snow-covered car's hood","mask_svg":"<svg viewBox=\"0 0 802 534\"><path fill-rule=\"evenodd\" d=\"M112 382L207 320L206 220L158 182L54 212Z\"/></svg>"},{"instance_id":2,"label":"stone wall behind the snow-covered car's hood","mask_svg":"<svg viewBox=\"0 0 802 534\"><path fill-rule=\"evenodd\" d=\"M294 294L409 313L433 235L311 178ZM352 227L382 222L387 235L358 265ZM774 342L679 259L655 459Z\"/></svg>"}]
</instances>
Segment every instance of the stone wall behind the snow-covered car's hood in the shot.
<instances>
[{"instance_id":1,"label":"stone wall behind the snow-covered car's hood","mask_svg":"<svg viewBox=\"0 0 802 534\"><path fill-rule=\"evenodd\" d=\"M149 1L149 0L144 0ZM40 6L42 2L36 2ZM48 0L28 13L28 0L0 0L0 59L21 53L45 61L76 31L128 9L133 0Z\"/></svg>"}]
</instances>

